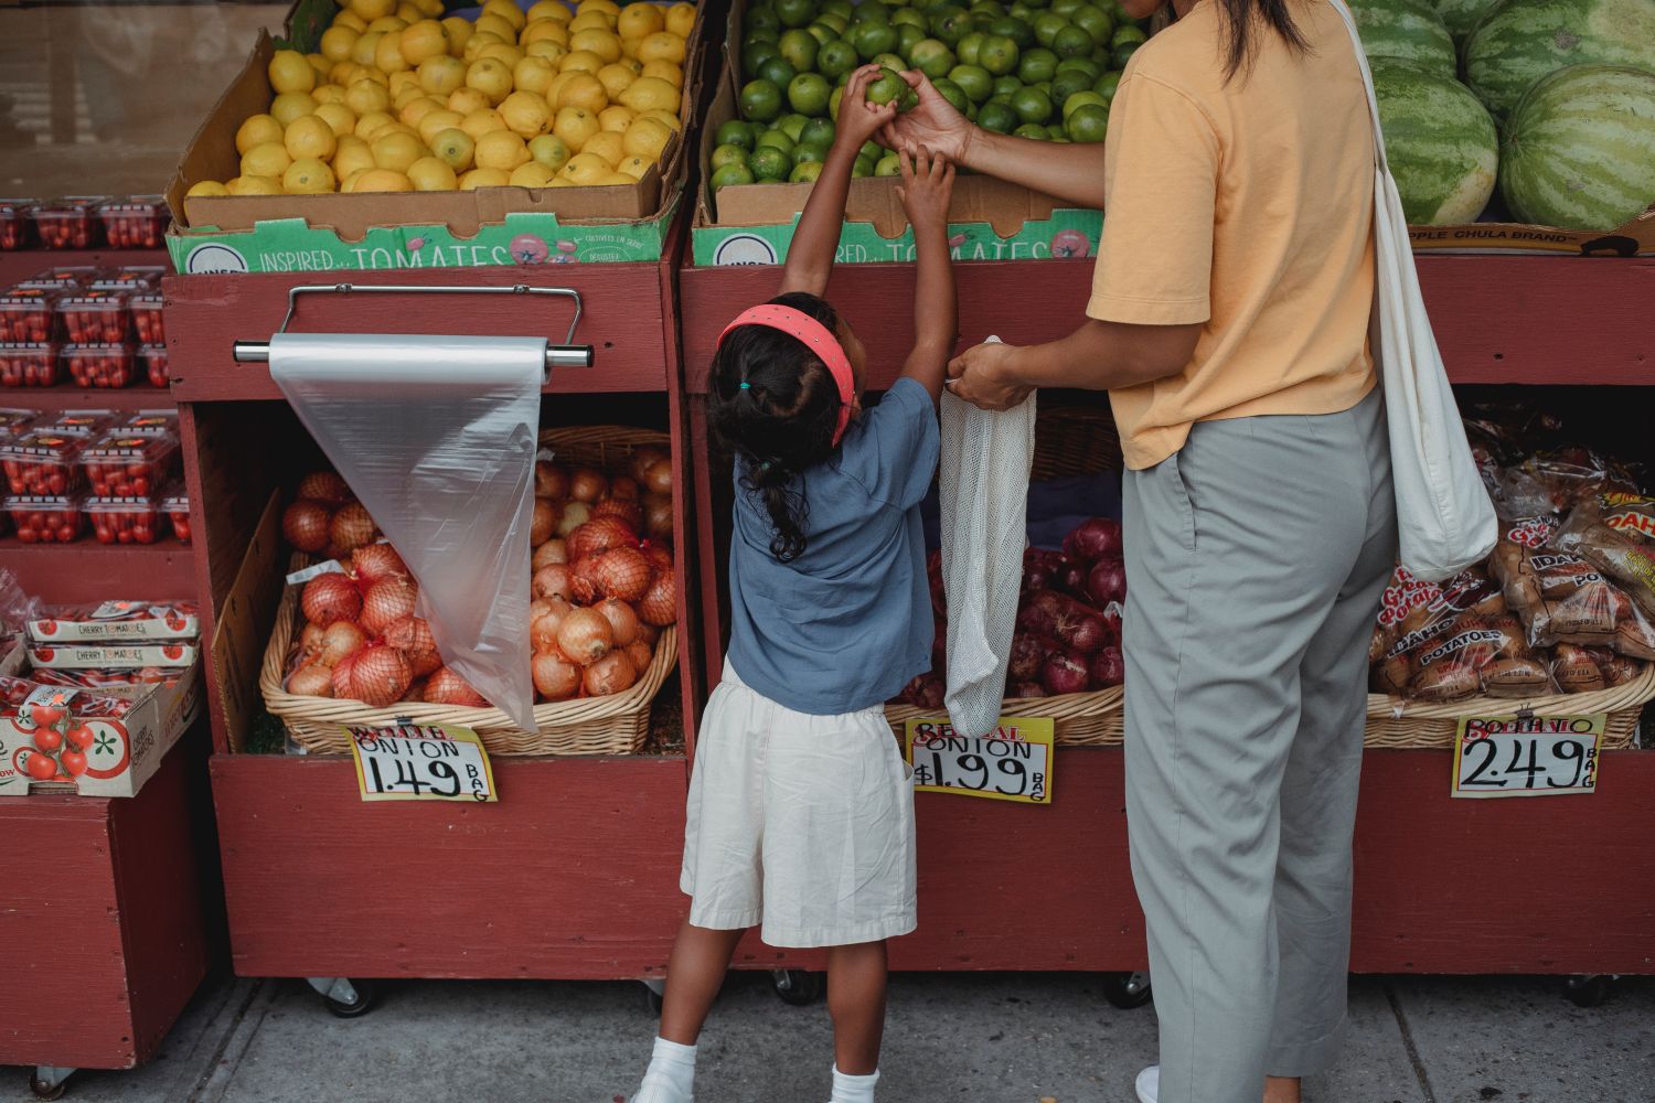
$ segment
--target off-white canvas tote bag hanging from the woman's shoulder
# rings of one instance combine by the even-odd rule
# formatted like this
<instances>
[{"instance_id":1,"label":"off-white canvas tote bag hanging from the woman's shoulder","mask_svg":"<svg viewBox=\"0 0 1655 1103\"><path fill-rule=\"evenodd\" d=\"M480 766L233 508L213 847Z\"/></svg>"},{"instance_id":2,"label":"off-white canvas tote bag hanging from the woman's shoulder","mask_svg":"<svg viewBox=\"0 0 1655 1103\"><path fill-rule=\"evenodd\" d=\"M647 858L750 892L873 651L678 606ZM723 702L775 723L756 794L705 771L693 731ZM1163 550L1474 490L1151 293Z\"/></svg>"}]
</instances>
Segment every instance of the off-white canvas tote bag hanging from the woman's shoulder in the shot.
<instances>
[{"instance_id":1,"label":"off-white canvas tote bag hanging from the woman's shoulder","mask_svg":"<svg viewBox=\"0 0 1655 1103\"><path fill-rule=\"evenodd\" d=\"M1400 561L1415 577L1442 582L1494 549L1494 504L1471 460L1460 408L1443 370L1432 321L1420 298L1408 220L1385 162L1385 141L1374 98L1374 74L1344 0L1344 17L1374 116L1374 293L1372 349L1385 389L1390 470L1397 494Z\"/></svg>"}]
</instances>

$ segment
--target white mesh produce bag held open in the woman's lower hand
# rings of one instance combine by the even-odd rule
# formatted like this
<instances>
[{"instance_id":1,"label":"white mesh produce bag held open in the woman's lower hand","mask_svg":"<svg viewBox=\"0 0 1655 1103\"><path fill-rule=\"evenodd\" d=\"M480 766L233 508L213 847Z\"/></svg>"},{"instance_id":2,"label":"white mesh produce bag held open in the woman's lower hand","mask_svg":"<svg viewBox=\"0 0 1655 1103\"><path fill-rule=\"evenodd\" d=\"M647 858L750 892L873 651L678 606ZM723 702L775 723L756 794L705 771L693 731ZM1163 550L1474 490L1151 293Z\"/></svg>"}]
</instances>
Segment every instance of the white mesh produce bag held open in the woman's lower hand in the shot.
<instances>
[{"instance_id":1,"label":"white mesh produce bag held open in the woman's lower hand","mask_svg":"<svg viewBox=\"0 0 1655 1103\"><path fill-rule=\"evenodd\" d=\"M998 341L990 337L990 341ZM942 397L942 580L948 595L948 719L962 736L1000 723L1028 544L1034 395L1011 410Z\"/></svg>"}]
</instances>

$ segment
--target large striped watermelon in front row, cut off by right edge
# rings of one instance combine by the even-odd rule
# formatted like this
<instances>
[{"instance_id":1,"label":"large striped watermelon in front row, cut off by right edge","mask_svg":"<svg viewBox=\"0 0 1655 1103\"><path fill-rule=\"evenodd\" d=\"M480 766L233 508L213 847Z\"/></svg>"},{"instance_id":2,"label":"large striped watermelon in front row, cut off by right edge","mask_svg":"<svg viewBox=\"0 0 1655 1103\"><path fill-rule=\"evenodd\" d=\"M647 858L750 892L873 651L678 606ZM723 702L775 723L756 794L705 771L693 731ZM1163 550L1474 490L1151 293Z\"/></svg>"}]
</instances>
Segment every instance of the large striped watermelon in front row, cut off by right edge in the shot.
<instances>
[{"instance_id":1,"label":"large striped watermelon in front row, cut off by right edge","mask_svg":"<svg viewBox=\"0 0 1655 1103\"><path fill-rule=\"evenodd\" d=\"M1523 222L1614 230L1655 203L1655 73L1557 69L1506 122L1499 192Z\"/></svg>"}]
</instances>

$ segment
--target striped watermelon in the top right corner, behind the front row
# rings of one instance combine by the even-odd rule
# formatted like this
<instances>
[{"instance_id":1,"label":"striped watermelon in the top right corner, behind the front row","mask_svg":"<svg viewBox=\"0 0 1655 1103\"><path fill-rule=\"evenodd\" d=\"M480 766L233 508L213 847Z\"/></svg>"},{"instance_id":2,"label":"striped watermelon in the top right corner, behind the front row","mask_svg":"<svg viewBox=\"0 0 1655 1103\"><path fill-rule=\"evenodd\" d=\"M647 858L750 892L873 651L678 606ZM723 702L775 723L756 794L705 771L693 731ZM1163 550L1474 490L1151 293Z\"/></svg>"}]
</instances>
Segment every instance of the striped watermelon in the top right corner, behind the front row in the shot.
<instances>
[{"instance_id":1,"label":"striped watermelon in the top right corner, behind the front row","mask_svg":"<svg viewBox=\"0 0 1655 1103\"><path fill-rule=\"evenodd\" d=\"M1655 0L1504 0L1465 43L1465 79L1499 119L1569 64L1655 71Z\"/></svg>"}]
</instances>

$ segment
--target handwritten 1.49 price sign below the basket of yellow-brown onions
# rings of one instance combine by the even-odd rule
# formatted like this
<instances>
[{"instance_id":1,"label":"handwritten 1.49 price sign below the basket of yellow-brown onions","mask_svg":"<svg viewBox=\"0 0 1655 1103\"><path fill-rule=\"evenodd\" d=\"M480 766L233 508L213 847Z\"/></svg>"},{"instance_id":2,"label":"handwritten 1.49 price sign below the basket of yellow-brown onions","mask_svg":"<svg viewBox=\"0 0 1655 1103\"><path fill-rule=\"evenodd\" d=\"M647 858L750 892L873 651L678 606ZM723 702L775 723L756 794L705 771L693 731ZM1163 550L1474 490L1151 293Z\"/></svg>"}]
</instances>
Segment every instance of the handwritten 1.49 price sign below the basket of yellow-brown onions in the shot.
<instances>
[{"instance_id":1,"label":"handwritten 1.49 price sign below the basket of yellow-brown onions","mask_svg":"<svg viewBox=\"0 0 1655 1103\"><path fill-rule=\"evenodd\" d=\"M362 800L495 802L488 751L470 728L346 728Z\"/></svg>"}]
</instances>

